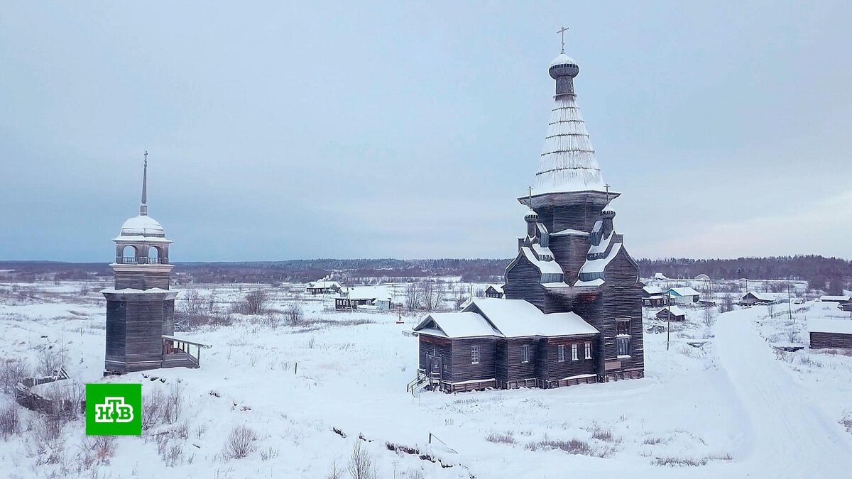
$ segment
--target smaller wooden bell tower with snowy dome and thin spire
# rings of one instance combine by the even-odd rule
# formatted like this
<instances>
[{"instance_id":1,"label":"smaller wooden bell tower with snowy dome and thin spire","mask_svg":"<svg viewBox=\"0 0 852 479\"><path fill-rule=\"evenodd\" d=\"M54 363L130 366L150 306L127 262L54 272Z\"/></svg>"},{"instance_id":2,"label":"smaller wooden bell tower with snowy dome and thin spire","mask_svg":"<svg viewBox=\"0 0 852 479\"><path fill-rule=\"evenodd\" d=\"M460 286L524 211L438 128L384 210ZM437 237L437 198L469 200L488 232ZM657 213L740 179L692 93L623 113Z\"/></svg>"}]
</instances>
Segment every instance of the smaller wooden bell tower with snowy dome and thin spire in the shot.
<instances>
[{"instance_id":1,"label":"smaller wooden bell tower with snowy dome and thin spire","mask_svg":"<svg viewBox=\"0 0 852 479\"><path fill-rule=\"evenodd\" d=\"M173 336L177 292L170 291L171 240L148 216L147 152L145 157L139 215L124 222L113 239L115 286L101 291L107 298L104 374L199 367L200 349L209 347Z\"/></svg>"}]
</instances>

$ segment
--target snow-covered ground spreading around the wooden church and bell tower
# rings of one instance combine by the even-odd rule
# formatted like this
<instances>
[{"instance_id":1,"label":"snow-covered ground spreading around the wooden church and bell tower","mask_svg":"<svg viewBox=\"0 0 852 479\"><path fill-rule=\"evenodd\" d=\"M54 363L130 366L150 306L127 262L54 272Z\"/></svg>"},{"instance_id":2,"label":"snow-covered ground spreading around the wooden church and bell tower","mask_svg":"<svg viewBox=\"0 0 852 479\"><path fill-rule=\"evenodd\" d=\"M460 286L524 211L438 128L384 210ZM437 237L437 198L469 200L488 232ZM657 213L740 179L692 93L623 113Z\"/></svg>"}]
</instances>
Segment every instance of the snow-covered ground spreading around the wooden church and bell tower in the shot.
<instances>
[{"instance_id":1,"label":"snow-covered ground spreading around the wooden church and bell tower","mask_svg":"<svg viewBox=\"0 0 852 479\"><path fill-rule=\"evenodd\" d=\"M337 312L298 286L271 289L271 313L176 333L213 345L200 369L103 378L106 286L0 285L0 363L35 373L60 351L79 383L141 382L168 411L150 413L141 437L93 441L81 417L48 424L19 408L18 430L0 437L0 476L349 477L356 444L382 478L843 477L852 464L852 356L770 346L807 343L809 320L849 319L834 304L794 304L792 319L786 304L787 315L687 308L668 344L646 333L640 380L412 395L417 338L403 332L417 315ZM230 310L257 287L196 291ZM282 319L292 304L296 326ZM0 416L13 404L3 393ZM248 447L235 459L226 446L241 426Z\"/></svg>"}]
</instances>

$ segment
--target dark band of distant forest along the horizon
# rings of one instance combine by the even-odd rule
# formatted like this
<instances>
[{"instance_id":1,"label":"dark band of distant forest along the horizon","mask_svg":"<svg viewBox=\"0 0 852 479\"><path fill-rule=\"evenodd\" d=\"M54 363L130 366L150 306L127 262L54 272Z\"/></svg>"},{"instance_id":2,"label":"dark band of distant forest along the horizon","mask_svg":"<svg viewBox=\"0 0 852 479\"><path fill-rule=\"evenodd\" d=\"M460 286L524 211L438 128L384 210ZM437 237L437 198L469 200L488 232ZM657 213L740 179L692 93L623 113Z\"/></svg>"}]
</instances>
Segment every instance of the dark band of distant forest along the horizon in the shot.
<instances>
[{"instance_id":1,"label":"dark band of distant forest along the horizon","mask_svg":"<svg viewBox=\"0 0 852 479\"><path fill-rule=\"evenodd\" d=\"M328 275L344 283L383 278L459 276L463 281L499 282L509 259L307 259L245 263L176 263L175 279L193 283L306 282ZM712 279L807 280L816 289L838 292L852 280L852 263L821 256L740 257L737 259L640 259L643 278L662 273L675 278L706 274ZM111 276L107 263L0 262L0 280L82 280Z\"/></svg>"}]
</instances>

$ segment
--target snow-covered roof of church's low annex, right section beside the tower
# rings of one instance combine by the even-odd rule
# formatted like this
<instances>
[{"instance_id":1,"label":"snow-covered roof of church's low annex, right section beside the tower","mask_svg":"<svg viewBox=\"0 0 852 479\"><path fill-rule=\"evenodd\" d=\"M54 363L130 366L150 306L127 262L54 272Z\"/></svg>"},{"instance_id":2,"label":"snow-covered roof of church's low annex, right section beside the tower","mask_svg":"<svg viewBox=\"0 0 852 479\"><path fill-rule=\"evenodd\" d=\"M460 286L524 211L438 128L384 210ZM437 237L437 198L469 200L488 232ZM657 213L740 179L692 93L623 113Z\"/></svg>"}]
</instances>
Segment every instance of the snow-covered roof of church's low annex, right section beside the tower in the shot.
<instances>
[{"instance_id":1,"label":"snow-covered roof of church's low annex, right section beside the tower","mask_svg":"<svg viewBox=\"0 0 852 479\"><path fill-rule=\"evenodd\" d=\"M550 313L522 299L478 298L465 312L478 311L506 338L574 336L598 331L576 313Z\"/></svg>"}]
</instances>

